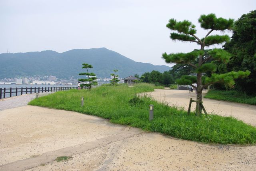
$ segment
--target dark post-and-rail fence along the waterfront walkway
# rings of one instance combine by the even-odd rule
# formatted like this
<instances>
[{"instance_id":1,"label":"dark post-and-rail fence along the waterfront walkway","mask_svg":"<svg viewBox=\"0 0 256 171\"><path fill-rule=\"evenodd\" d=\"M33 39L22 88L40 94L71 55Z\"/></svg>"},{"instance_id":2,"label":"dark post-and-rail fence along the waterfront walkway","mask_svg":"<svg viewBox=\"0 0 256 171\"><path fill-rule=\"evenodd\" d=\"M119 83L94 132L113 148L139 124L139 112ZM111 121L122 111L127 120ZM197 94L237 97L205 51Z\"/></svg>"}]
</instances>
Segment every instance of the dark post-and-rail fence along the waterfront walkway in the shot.
<instances>
[{"instance_id":1,"label":"dark post-and-rail fence along the waterfront walkway","mask_svg":"<svg viewBox=\"0 0 256 171\"><path fill-rule=\"evenodd\" d=\"M21 88L0 88L0 99L22 94L46 93L55 91L65 91L70 89L78 89L78 87L21 87Z\"/></svg>"}]
</instances>

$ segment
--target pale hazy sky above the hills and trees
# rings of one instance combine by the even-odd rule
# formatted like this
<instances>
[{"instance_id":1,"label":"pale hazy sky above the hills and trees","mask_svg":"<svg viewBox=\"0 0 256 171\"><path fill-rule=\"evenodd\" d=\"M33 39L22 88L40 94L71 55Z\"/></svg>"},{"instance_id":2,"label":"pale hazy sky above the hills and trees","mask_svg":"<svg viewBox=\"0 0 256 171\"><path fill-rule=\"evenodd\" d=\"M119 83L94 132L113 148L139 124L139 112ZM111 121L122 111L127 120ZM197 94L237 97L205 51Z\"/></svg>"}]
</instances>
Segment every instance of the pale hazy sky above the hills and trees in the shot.
<instances>
[{"instance_id":1,"label":"pale hazy sky above the hills and trees","mask_svg":"<svg viewBox=\"0 0 256 171\"><path fill-rule=\"evenodd\" d=\"M0 53L105 47L137 62L171 66L163 52L198 46L173 42L170 18L192 21L202 37L201 14L237 20L252 10L256 0L0 0Z\"/></svg>"}]
</instances>

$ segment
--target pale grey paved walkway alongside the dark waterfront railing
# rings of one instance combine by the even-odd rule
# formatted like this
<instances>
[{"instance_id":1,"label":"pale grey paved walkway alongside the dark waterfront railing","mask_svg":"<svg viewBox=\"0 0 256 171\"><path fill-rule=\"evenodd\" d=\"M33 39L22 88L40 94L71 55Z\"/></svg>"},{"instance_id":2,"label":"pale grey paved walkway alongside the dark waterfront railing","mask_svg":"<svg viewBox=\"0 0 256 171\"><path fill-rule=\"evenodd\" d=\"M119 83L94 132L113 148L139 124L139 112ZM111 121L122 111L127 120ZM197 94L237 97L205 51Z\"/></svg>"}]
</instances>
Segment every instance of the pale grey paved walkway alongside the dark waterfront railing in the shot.
<instances>
[{"instance_id":1,"label":"pale grey paved walkway alongside the dark waterfront railing","mask_svg":"<svg viewBox=\"0 0 256 171\"><path fill-rule=\"evenodd\" d=\"M50 93L54 93L54 92L39 93L39 97L48 95ZM15 97L0 99L0 111L4 109L10 109L13 107L20 107L20 106L27 105L34 98L36 98L36 93L24 94L24 95L19 95Z\"/></svg>"}]
</instances>

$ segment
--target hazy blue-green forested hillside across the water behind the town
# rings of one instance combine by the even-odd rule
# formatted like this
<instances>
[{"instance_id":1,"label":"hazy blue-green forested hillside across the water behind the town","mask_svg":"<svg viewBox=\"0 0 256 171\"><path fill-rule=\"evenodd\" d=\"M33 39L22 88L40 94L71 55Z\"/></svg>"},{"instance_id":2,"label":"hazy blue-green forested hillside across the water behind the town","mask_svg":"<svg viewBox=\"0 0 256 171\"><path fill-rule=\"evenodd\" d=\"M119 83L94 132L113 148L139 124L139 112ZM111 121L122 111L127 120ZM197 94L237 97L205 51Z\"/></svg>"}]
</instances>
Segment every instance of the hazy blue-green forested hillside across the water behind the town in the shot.
<instances>
[{"instance_id":1,"label":"hazy blue-green forested hillside across the water behind the town","mask_svg":"<svg viewBox=\"0 0 256 171\"><path fill-rule=\"evenodd\" d=\"M90 72L94 72L98 78L110 77L114 69L118 69L121 78L134 74L141 75L152 70L164 72L171 69L168 66L135 62L106 48L74 49L63 53L46 50L0 54L0 78L34 75L80 78L78 73L85 72L82 70L82 63L92 64L93 68Z\"/></svg>"}]
</instances>

